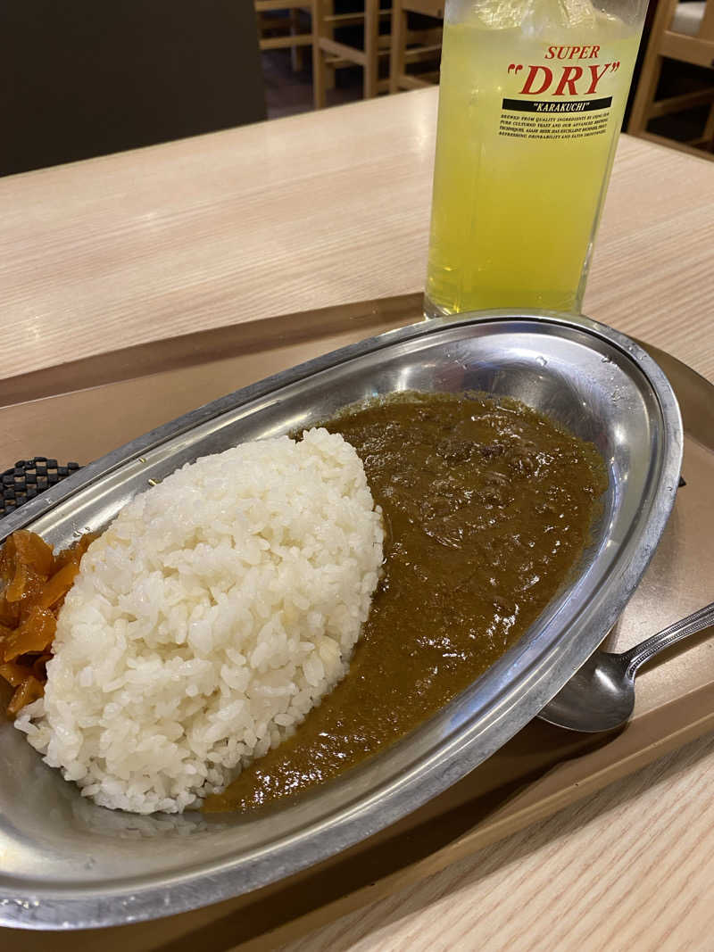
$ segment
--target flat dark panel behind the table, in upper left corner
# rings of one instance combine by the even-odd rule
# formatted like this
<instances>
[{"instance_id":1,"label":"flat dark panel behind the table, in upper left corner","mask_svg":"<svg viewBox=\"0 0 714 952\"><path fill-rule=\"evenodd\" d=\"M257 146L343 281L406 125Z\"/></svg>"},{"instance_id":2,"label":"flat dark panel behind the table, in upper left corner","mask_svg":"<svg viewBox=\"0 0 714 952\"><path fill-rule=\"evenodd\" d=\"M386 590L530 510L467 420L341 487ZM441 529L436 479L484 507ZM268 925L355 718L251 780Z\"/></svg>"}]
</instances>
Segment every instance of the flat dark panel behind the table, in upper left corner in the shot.
<instances>
[{"instance_id":1,"label":"flat dark panel behind the table, in upper left corner","mask_svg":"<svg viewBox=\"0 0 714 952\"><path fill-rule=\"evenodd\" d=\"M251 4L0 5L0 174L264 119Z\"/></svg>"}]
</instances>

